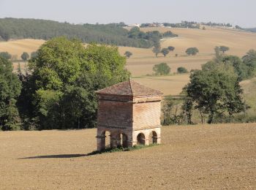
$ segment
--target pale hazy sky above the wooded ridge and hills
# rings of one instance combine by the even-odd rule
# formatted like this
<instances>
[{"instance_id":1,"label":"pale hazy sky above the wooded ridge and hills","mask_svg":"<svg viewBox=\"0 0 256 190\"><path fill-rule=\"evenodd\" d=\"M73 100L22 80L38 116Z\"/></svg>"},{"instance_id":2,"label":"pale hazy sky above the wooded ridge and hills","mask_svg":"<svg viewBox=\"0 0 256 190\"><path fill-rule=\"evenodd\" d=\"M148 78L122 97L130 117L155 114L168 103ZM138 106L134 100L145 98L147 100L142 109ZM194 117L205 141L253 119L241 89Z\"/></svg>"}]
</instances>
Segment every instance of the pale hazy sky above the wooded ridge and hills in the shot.
<instances>
[{"instance_id":1,"label":"pale hazy sky above the wooded ridge and hills","mask_svg":"<svg viewBox=\"0 0 256 190\"><path fill-rule=\"evenodd\" d=\"M178 23L181 20L256 27L256 0L0 0L0 18L69 23Z\"/></svg>"}]
</instances>

